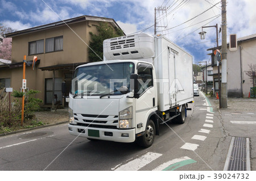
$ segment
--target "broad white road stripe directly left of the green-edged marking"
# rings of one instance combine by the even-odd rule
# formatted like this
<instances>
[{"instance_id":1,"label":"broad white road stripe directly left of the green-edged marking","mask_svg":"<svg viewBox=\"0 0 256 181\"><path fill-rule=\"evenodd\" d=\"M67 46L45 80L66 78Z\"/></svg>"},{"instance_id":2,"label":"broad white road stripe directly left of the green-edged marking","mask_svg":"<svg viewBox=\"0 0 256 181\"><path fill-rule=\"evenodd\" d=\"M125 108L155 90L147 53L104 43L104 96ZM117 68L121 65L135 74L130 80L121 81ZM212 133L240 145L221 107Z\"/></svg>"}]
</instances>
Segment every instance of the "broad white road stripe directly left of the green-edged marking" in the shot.
<instances>
[{"instance_id":1,"label":"broad white road stripe directly left of the green-edged marking","mask_svg":"<svg viewBox=\"0 0 256 181\"><path fill-rule=\"evenodd\" d=\"M139 158L136 158L128 163L126 163L125 165L121 165L121 166L116 166L114 167L112 170L121 170L121 171L125 171L125 170L129 170L129 171L136 171L141 169L142 167L146 166L148 163L154 161L156 158L162 156L162 154L160 153L152 153L152 152L148 152L144 155L142 155Z\"/></svg>"}]
</instances>

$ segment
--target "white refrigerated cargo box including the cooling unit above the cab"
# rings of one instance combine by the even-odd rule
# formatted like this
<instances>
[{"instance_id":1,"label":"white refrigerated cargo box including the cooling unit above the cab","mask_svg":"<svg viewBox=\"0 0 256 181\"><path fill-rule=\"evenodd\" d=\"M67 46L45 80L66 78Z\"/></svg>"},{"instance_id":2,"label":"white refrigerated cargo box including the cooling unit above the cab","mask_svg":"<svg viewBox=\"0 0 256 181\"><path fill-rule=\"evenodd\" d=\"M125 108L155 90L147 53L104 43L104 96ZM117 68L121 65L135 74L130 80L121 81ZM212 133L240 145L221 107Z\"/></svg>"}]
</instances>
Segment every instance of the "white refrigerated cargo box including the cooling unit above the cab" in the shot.
<instances>
[{"instance_id":1,"label":"white refrigerated cargo box including the cooling unit above the cab","mask_svg":"<svg viewBox=\"0 0 256 181\"><path fill-rule=\"evenodd\" d=\"M146 33L104 40L106 60L142 60L154 65L159 111L193 101L192 56L162 35Z\"/></svg>"}]
</instances>

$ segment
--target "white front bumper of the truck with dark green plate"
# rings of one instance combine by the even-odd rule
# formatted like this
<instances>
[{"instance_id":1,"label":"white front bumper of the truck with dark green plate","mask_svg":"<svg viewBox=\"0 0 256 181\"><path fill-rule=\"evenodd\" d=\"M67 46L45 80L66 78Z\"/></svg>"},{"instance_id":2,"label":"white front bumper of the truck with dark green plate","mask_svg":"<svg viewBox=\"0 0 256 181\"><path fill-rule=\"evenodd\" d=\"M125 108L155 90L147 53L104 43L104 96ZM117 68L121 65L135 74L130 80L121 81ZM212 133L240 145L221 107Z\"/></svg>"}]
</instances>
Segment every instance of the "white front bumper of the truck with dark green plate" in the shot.
<instances>
[{"instance_id":1,"label":"white front bumper of the truck with dark green plate","mask_svg":"<svg viewBox=\"0 0 256 181\"><path fill-rule=\"evenodd\" d=\"M106 129L92 128L81 125L68 124L69 133L74 136L107 140L116 142L134 142L135 128L133 129ZM90 136L89 136L90 135Z\"/></svg>"}]
</instances>

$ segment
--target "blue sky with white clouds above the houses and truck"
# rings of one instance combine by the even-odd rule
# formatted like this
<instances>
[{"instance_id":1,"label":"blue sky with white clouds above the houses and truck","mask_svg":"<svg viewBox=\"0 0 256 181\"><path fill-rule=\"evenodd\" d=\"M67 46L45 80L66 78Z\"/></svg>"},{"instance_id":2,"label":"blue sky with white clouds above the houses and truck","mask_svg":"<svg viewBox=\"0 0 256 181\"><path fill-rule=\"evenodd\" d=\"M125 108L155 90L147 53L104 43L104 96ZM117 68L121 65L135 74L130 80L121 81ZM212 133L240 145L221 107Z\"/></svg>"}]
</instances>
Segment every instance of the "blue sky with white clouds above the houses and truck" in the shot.
<instances>
[{"instance_id":1,"label":"blue sky with white clouds above the houses and truck","mask_svg":"<svg viewBox=\"0 0 256 181\"><path fill-rule=\"evenodd\" d=\"M126 35L154 34L168 37L193 56L193 63L210 62L209 48L216 47L216 28L221 27L220 0L0 0L0 24L24 30L81 15L113 18ZM227 41L236 33L243 37L256 33L256 1L227 2ZM221 45L221 33L218 35Z\"/></svg>"}]
</instances>

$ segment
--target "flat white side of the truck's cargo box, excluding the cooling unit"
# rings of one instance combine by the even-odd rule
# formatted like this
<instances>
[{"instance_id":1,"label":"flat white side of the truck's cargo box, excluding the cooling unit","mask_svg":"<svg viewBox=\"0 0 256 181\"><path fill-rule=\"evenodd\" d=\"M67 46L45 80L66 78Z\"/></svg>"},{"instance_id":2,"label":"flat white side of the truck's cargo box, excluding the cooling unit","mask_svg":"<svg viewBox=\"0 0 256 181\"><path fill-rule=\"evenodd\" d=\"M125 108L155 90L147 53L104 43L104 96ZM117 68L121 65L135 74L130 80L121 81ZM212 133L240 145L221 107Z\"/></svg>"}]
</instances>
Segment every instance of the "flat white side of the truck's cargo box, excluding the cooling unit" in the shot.
<instances>
[{"instance_id":1,"label":"flat white side of the truck's cargo box, excluding the cooling unit","mask_svg":"<svg viewBox=\"0 0 256 181\"><path fill-rule=\"evenodd\" d=\"M162 35L155 36L155 58L152 64L159 79L160 111L193 101L192 56Z\"/></svg>"}]
</instances>

